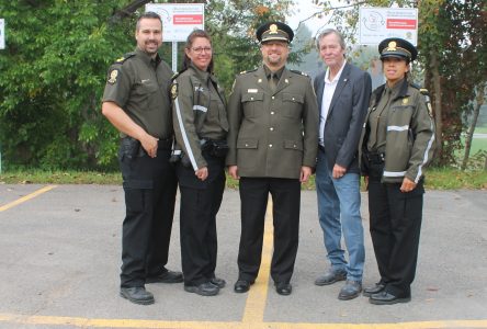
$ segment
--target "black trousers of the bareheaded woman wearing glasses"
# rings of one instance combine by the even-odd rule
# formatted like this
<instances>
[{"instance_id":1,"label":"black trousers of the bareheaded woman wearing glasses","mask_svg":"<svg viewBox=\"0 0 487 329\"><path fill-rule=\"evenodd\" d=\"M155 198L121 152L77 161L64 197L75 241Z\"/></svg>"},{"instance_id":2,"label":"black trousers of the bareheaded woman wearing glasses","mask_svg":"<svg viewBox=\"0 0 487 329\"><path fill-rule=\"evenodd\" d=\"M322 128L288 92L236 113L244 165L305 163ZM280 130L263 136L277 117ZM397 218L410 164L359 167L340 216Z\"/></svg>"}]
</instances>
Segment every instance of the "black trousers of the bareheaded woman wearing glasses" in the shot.
<instances>
[{"instance_id":1,"label":"black trousers of the bareheaded woman wearing glasses","mask_svg":"<svg viewBox=\"0 0 487 329\"><path fill-rule=\"evenodd\" d=\"M201 181L193 168L177 164L180 182L181 262L184 285L200 285L215 277L217 257L216 214L225 190L225 158L203 151L208 177Z\"/></svg>"}]
</instances>

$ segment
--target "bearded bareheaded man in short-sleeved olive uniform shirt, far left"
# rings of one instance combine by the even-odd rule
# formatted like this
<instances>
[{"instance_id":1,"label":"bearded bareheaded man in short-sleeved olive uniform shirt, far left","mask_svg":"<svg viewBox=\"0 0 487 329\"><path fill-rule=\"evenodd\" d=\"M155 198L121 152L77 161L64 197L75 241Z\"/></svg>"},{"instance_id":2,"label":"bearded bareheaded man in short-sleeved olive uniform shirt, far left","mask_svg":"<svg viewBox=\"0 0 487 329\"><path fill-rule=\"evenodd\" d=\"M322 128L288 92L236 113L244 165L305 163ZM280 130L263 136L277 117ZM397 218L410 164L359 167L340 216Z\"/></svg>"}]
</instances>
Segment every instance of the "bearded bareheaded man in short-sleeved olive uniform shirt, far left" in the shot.
<instances>
[{"instance_id":1,"label":"bearded bareheaded man in short-sleeved olive uniform shirt, far left","mask_svg":"<svg viewBox=\"0 0 487 329\"><path fill-rule=\"evenodd\" d=\"M103 94L102 113L121 132L118 160L125 191L126 216L122 236L122 297L154 303L145 283L182 282L168 271L169 240L177 179L169 163L172 117L169 84L172 71L157 50L162 22L154 12L136 26L137 48L113 64Z\"/></svg>"}]
</instances>

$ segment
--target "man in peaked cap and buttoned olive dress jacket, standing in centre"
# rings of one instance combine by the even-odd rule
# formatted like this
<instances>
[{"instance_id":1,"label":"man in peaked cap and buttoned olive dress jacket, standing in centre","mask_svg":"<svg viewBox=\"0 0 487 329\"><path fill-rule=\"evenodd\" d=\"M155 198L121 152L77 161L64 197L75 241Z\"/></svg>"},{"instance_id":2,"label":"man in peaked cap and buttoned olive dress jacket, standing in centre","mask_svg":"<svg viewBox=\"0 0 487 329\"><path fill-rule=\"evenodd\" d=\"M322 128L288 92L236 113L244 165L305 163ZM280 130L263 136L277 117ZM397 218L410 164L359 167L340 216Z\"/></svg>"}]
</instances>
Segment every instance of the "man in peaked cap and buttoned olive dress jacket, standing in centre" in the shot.
<instances>
[{"instance_id":1,"label":"man in peaked cap and buttoned olive dress jacket, standing in centre","mask_svg":"<svg viewBox=\"0 0 487 329\"><path fill-rule=\"evenodd\" d=\"M280 22L258 29L263 65L236 78L228 104L227 166L240 179L241 198L237 293L247 292L259 272L269 193L274 216L271 276L280 295L292 292L301 182L316 164L319 123L310 78L285 67L293 36Z\"/></svg>"}]
</instances>

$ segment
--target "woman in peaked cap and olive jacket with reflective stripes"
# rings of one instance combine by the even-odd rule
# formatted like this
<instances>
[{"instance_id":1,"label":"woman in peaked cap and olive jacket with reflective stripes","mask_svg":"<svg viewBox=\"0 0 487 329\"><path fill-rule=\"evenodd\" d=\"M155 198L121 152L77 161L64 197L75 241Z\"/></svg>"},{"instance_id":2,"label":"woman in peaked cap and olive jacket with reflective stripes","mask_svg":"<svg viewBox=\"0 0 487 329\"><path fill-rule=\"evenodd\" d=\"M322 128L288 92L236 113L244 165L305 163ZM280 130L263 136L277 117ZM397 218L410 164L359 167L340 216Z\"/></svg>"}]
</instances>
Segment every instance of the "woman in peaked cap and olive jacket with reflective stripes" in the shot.
<instances>
[{"instance_id":1,"label":"woman in peaked cap and olive jacket with reflective stripes","mask_svg":"<svg viewBox=\"0 0 487 329\"><path fill-rule=\"evenodd\" d=\"M433 155L428 91L408 81L418 52L401 38L378 45L386 83L371 97L361 140L372 243L381 280L363 294L388 305L411 299L422 219L424 168Z\"/></svg>"}]
</instances>

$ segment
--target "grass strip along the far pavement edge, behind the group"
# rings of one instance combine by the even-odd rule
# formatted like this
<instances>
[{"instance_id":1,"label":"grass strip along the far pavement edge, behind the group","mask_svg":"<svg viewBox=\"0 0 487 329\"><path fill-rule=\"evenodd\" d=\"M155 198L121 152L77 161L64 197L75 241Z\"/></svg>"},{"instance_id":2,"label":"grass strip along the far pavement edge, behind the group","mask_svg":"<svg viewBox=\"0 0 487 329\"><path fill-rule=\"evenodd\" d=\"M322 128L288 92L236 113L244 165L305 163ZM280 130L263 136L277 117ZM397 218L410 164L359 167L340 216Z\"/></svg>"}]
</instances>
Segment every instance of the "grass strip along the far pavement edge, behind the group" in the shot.
<instances>
[{"instance_id":1,"label":"grass strip along the far pavement edge, behind the group","mask_svg":"<svg viewBox=\"0 0 487 329\"><path fill-rule=\"evenodd\" d=\"M7 171L0 174L0 184L122 184L120 172L93 171ZM238 189L238 181L227 177L227 188ZM428 190L486 190L487 171L460 171L432 168L427 171ZM303 190L315 190L315 177L303 184Z\"/></svg>"}]
</instances>

